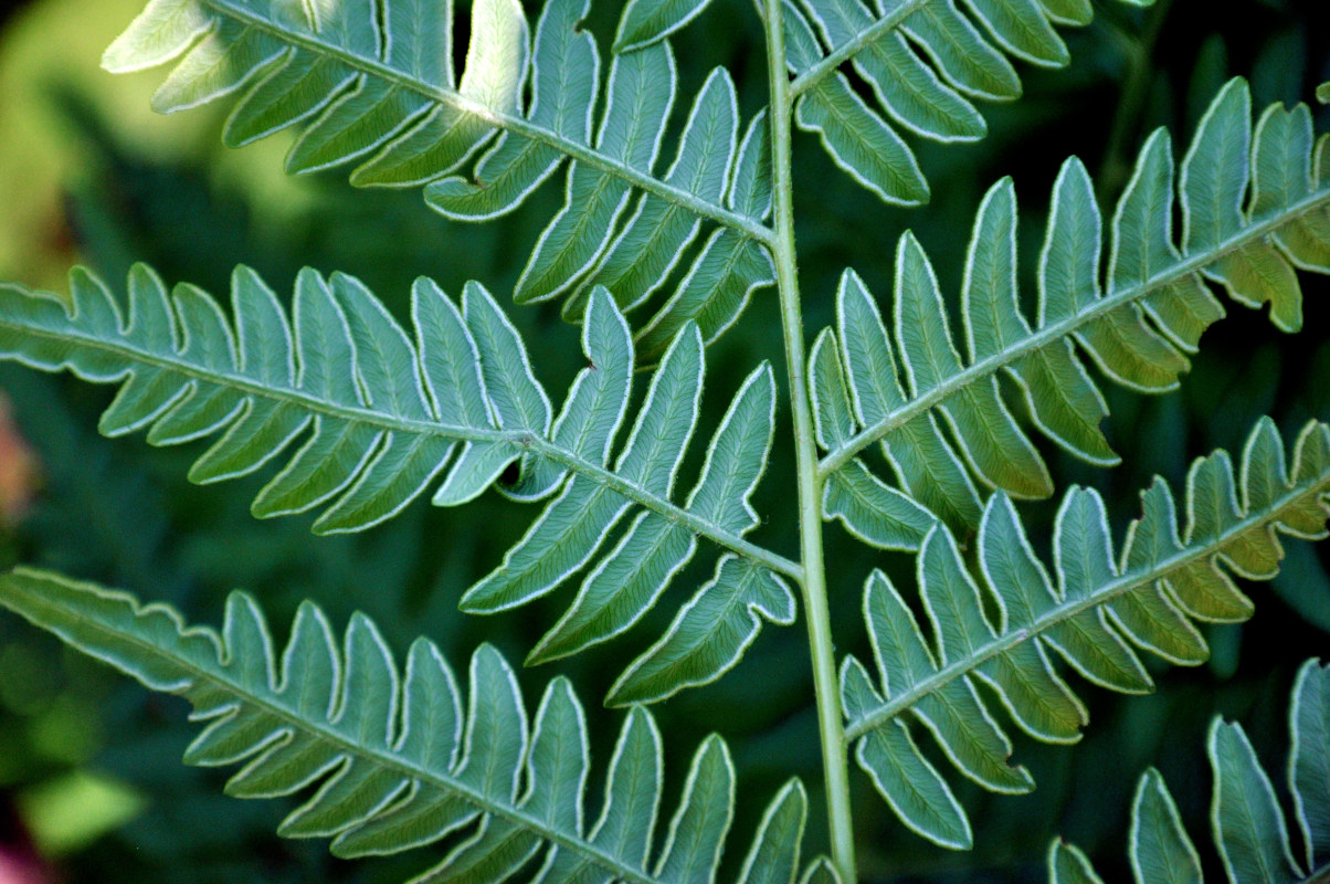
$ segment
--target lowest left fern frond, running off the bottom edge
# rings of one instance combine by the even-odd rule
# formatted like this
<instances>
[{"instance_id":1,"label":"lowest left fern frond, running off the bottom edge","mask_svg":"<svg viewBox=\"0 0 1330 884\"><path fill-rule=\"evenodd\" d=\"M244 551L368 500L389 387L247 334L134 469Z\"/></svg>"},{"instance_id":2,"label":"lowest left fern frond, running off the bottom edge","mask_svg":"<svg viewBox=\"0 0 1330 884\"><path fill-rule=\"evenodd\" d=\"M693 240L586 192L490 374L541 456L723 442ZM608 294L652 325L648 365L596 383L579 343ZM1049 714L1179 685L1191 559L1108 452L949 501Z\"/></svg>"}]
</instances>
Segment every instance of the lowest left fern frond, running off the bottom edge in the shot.
<instances>
[{"instance_id":1,"label":"lowest left fern frond, running off the bottom edge","mask_svg":"<svg viewBox=\"0 0 1330 884\"><path fill-rule=\"evenodd\" d=\"M342 857L450 839L418 883L500 884L524 868L540 884L714 881L734 813L725 742L713 735L693 756L658 847L661 735L650 712L632 710L588 828L577 696L555 679L528 724L517 680L489 646L471 658L463 695L427 639L412 643L399 672L368 618L352 615L339 648L310 602L281 658L262 611L242 592L227 600L221 634L185 627L166 606L29 568L0 578L0 604L149 688L188 699L205 727L185 760L243 764L229 795L275 797L317 785L282 821L283 836L330 837ZM794 883L806 804L798 780L775 796L745 881Z\"/></svg>"}]
</instances>

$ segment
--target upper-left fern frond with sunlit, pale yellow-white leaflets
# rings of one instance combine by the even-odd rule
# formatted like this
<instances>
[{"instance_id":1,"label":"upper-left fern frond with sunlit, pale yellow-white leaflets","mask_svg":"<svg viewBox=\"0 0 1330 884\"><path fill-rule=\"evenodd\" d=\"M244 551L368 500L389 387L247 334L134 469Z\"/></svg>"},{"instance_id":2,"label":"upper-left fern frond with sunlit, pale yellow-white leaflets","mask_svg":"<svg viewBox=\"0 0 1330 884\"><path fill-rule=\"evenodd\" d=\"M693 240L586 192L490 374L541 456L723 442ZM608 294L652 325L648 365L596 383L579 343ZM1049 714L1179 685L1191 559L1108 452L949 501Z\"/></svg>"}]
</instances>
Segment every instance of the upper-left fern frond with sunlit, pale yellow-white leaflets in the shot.
<instances>
[{"instance_id":1,"label":"upper-left fern frond with sunlit, pale yellow-white leaflets","mask_svg":"<svg viewBox=\"0 0 1330 884\"><path fill-rule=\"evenodd\" d=\"M552 0L532 41L520 4L477 0L458 81L448 0L387 3L382 15L371 0L150 0L104 65L176 61L153 99L158 110L241 93L227 144L295 126L287 170L355 162L352 184L427 185L426 201L458 220L511 212L571 158L567 202L515 297L563 296L580 317L591 290L605 285L630 309L688 254L685 280L644 324L654 329L644 332L644 349L657 357L688 320L713 339L754 289L774 282L763 224L767 126L758 114L739 144L734 84L716 69L673 164L657 174L677 81L673 53L657 41L614 56L593 138L601 73L596 43L579 28L587 12L585 0ZM704 221L716 230L689 252Z\"/></svg>"}]
</instances>

